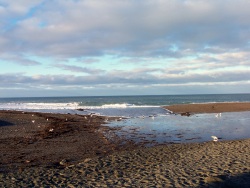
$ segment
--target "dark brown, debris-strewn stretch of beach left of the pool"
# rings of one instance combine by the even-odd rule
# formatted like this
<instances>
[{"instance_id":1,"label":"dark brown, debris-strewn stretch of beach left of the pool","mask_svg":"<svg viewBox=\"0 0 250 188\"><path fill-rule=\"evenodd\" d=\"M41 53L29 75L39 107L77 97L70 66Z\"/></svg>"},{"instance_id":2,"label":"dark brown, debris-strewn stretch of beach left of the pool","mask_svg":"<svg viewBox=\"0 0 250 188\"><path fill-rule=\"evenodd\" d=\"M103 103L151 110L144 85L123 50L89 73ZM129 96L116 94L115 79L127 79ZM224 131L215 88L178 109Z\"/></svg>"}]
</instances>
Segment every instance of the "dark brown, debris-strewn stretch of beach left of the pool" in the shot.
<instances>
[{"instance_id":1,"label":"dark brown, debris-strewn stretch of beach left of the pool","mask_svg":"<svg viewBox=\"0 0 250 188\"><path fill-rule=\"evenodd\" d=\"M0 110L0 172L61 167L135 147L105 124L105 116Z\"/></svg>"}]
</instances>

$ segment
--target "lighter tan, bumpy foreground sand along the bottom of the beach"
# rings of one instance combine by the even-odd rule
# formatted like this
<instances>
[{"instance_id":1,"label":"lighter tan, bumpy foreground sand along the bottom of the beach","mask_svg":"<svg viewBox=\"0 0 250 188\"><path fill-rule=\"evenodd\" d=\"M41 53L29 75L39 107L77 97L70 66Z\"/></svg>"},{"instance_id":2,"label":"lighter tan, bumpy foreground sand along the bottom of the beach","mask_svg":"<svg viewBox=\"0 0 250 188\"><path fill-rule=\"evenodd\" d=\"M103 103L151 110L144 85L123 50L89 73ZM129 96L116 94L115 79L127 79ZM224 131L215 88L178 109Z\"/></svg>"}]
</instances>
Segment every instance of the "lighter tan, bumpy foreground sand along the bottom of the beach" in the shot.
<instances>
[{"instance_id":1,"label":"lighter tan, bumpy foreground sand along the bottom of the beach","mask_svg":"<svg viewBox=\"0 0 250 188\"><path fill-rule=\"evenodd\" d=\"M249 187L250 139L114 152L65 168L0 173L2 187Z\"/></svg>"}]
</instances>

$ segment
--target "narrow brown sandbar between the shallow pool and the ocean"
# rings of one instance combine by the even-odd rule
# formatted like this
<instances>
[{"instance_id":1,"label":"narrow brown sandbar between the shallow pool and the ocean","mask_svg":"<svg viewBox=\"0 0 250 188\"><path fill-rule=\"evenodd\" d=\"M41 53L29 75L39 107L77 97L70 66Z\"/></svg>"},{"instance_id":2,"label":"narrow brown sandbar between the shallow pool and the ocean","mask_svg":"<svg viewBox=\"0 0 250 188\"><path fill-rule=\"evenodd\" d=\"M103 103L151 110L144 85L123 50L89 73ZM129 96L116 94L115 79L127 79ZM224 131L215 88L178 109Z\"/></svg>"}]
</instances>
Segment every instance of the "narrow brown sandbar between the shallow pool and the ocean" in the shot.
<instances>
[{"instance_id":1,"label":"narrow brown sandbar between the shallow pool and the ocean","mask_svg":"<svg viewBox=\"0 0 250 188\"><path fill-rule=\"evenodd\" d=\"M177 104L164 106L173 113L223 113L250 111L250 102Z\"/></svg>"}]
</instances>

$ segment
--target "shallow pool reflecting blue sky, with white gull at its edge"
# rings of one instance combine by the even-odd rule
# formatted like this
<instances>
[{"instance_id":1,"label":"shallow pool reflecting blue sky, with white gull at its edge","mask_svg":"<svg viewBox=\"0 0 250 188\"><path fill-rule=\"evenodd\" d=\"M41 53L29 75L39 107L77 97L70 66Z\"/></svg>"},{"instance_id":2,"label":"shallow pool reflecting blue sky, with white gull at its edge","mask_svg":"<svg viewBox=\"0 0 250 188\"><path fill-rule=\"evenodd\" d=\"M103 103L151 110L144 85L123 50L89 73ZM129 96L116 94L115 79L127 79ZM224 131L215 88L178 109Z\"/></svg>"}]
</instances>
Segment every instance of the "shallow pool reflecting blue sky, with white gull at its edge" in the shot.
<instances>
[{"instance_id":1,"label":"shallow pool reflecting blue sky, with white gull at its edge","mask_svg":"<svg viewBox=\"0 0 250 188\"><path fill-rule=\"evenodd\" d=\"M117 135L135 142L151 144L190 143L211 141L211 136L220 140L244 139L250 137L250 112L158 115L134 117L111 122L111 127L120 127Z\"/></svg>"}]
</instances>

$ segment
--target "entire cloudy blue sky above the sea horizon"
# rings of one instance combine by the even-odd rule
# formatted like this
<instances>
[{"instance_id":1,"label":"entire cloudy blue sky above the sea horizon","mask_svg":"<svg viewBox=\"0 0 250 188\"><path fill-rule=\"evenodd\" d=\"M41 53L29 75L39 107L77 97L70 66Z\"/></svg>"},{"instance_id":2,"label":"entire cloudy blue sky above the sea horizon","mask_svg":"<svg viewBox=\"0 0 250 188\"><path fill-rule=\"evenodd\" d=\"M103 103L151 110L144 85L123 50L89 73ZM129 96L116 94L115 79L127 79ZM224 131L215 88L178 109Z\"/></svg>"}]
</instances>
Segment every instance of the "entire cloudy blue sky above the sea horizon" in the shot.
<instances>
[{"instance_id":1,"label":"entire cloudy blue sky above the sea horizon","mask_svg":"<svg viewBox=\"0 0 250 188\"><path fill-rule=\"evenodd\" d=\"M0 0L0 97L250 93L249 0Z\"/></svg>"}]
</instances>

